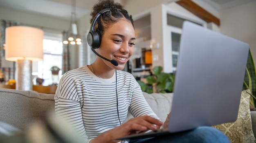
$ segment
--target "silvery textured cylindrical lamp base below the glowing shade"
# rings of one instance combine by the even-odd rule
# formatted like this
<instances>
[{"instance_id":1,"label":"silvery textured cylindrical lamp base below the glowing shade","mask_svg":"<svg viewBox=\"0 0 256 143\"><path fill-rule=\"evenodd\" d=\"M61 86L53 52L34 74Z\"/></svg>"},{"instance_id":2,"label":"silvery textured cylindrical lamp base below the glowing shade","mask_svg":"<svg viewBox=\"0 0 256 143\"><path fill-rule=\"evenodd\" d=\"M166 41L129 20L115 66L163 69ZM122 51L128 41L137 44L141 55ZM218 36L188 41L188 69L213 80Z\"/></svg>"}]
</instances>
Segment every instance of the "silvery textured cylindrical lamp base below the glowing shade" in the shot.
<instances>
[{"instance_id":1,"label":"silvery textured cylindrical lamp base below the glowing shade","mask_svg":"<svg viewBox=\"0 0 256 143\"><path fill-rule=\"evenodd\" d=\"M33 90L32 61L27 59L18 59L16 67L16 89Z\"/></svg>"}]
</instances>

